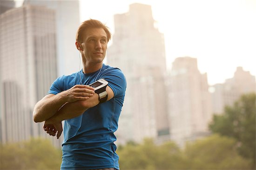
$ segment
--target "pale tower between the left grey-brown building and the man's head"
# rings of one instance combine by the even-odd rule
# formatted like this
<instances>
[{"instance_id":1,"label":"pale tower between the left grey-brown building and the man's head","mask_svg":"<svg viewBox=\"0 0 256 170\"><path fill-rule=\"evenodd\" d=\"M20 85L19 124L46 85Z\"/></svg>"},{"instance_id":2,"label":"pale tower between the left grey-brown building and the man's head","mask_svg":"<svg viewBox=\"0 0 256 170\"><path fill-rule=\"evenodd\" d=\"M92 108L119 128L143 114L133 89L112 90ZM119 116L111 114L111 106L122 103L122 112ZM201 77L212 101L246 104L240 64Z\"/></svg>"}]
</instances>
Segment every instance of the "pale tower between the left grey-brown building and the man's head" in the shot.
<instances>
[{"instance_id":1,"label":"pale tower between the left grey-brown building and the man's head","mask_svg":"<svg viewBox=\"0 0 256 170\"><path fill-rule=\"evenodd\" d=\"M80 26L79 0L24 0L23 4L55 10L58 76L78 72L80 58L75 34Z\"/></svg>"}]
</instances>

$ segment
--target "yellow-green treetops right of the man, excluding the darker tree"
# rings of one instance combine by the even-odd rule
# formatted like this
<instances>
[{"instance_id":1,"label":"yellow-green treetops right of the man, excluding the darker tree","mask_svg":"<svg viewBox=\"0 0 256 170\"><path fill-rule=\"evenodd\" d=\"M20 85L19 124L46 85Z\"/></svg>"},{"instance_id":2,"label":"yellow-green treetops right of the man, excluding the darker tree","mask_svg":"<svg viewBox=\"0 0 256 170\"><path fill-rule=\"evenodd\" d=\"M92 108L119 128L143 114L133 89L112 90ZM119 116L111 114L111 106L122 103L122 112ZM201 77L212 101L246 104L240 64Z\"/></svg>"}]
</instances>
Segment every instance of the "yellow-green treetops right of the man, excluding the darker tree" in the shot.
<instances>
[{"instance_id":1,"label":"yellow-green treetops right of the man, excluding the darker tree","mask_svg":"<svg viewBox=\"0 0 256 170\"><path fill-rule=\"evenodd\" d=\"M213 135L188 143L182 150L175 143L118 147L121 170L249 170L249 161L236 152L232 138Z\"/></svg>"}]
</instances>

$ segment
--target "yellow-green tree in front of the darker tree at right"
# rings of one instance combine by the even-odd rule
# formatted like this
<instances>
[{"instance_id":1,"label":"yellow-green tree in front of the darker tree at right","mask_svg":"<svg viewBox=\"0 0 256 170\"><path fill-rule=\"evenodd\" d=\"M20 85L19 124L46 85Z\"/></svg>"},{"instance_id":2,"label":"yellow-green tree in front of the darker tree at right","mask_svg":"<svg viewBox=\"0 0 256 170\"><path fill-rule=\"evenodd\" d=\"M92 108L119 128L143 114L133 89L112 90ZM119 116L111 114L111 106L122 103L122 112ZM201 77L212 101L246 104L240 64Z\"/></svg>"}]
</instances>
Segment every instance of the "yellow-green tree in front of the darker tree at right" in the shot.
<instances>
[{"instance_id":1,"label":"yellow-green tree in front of the darker tree at right","mask_svg":"<svg viewBox=\"0 0 256 170\"><path fill-rule=\"evenodd\" d=\"M184 155L188 170L250 170L249 161L236 151L235 139L217 134L188 143Z\"/></svg>"}]
</instances>

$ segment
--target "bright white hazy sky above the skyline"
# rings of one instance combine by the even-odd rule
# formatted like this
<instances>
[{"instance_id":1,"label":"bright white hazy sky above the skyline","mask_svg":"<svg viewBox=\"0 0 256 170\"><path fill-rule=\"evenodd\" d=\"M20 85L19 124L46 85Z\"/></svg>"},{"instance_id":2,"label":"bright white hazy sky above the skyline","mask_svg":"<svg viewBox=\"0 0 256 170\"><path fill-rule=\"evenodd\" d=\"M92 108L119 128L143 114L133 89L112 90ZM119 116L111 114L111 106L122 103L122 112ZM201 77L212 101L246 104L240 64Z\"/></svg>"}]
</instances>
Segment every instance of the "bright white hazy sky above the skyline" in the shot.
<instances>
[{"instance_id":1,"label":"bright white hazy sky above the skyline","mask_svg":"<svg viewBox=\"0 0 256 170\"><path fill-rule=\"evenodd\" d=\"M233 77L237 66L256 75L256 0L81 0L81 21L101 20L115 33L114 14L135 2L152 6L168 68L190 56L210 85Z\"/></svg>"}]
</instances>

